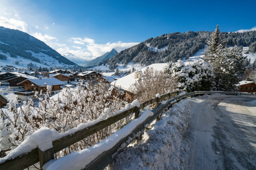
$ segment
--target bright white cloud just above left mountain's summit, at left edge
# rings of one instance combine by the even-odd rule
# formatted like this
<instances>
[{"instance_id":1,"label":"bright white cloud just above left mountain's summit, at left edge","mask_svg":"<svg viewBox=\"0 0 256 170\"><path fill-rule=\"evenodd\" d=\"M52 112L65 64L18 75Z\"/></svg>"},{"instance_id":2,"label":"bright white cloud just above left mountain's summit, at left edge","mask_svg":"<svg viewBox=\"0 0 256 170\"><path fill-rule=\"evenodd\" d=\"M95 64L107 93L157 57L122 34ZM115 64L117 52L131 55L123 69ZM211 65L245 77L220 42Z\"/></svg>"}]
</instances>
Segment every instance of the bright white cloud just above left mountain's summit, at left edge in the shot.
<instances>
[{"instance_id":1,"label":"bright white cloud just above left mountain's summit, at left edge","mask_svg":"<svg viewBox=\"0 0 256 170\"><path fill-rule=\"evenodd\" d=\"M28 24L22 20L16 20L13 18L8 19L1 16L0 16L0 26L3 26L5 28L20 30L23 32L26 32L28 28Z\"/></svg>"}]
</instances>

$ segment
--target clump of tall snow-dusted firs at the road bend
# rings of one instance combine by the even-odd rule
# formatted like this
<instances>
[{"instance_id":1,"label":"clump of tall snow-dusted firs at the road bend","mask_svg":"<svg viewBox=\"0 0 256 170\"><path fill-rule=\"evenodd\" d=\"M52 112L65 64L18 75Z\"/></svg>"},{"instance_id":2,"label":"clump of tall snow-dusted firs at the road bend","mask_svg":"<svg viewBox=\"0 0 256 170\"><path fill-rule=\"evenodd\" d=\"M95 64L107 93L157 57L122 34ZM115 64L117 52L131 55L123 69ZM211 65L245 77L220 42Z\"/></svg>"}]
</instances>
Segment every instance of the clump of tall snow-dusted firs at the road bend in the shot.
<instances>
[{"instance_id":1,"label":"clump of tall snow-dusted firs at the road bend","mask_svg":"<svg viewBox=\"0 0 256 170\"><path fill-rule=\"evenodd\" d=\"M231 50L226 47L226 40L221 35L217 25L211 41L207 42L205 61L209 62L215 74L215 90L233 91L236 84L242 80L241 76L246 69L246 57L237 46Z\"/></svg>"}]
</instances>

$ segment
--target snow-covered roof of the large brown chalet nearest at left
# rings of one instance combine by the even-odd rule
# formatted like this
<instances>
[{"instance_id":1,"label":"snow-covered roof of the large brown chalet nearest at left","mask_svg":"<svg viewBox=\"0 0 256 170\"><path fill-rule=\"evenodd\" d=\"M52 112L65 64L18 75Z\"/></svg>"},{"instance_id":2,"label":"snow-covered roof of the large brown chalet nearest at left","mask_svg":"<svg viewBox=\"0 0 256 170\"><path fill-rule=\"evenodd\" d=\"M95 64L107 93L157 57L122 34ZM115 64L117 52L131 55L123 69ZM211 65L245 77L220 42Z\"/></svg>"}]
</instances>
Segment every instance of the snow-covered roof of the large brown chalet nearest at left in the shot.
<instances>
[{"instance_id":1,"label":"snow-covered roof of the large brown chalet nearest at left","mask_svg":"<svg viewBox=\"0 0 256 170\"><path fill-rule=\"evenodd\" d=\"M44 83L46 83L46 85L62 85L62 84L65 84L64 82L62 82L62 81L60 81L60 80L58 80L58 79L56 79L54 77L41 78L41 79L39 79L39 78L31 79L30 78L30 79L27 79L27 80L31 81L35 85L38 85L38 86L40 85L41 87L44 86ZM26 81L26 80L24 80L24 81ZM18 83L18 85L22 84L23 82Z\"/></svg>"}]
</instances>

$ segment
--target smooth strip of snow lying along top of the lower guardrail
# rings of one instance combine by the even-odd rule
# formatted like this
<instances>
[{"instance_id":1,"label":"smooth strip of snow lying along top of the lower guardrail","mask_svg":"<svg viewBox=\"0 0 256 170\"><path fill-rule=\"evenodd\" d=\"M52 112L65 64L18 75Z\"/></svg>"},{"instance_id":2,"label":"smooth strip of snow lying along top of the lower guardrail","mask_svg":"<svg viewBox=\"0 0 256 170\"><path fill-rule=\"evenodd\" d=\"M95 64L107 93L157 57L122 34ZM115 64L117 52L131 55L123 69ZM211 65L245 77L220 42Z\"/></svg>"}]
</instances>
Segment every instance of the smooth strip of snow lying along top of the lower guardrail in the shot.
<instances>
[{"instance_id":1,"label":"smooth strip of snow lying along top of the lower guardrail","mask_svg":"<svg viewBox=\"0 0 256 170\"><path fill-rule=\"evenodd\" d=\"M93 145L89 148L81 150L79 152L73 152L67 156L59 158L58 160L51 161L50 165L47 165L46 170L81 170L92 160L94 160L98 155L102 154L104 151L113 148L118 141L129 135L131 131L147 117L152 116L153 112L146 110L137 119L132 120L128 125L125 125L122 129L110 135L105 140L100 143Z\"/></svg>"}]
</instances>

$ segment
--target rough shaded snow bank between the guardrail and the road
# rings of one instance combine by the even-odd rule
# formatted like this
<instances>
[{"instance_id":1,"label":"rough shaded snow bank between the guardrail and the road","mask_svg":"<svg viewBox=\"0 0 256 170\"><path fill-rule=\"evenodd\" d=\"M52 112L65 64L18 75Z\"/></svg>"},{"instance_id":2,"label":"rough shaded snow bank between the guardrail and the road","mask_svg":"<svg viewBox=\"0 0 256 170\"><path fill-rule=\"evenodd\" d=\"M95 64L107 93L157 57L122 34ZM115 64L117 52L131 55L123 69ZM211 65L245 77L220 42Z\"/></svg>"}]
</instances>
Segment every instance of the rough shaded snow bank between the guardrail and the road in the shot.
<instances>
[{"instance_id":1,"label":"rough shaded snow bank between the guardrail and the road","mask_svg":"<svg viewBox=\"0 0 256 170\"><path fill-rule=\"evenodd\" d=\"M179 149L188 122L193 99L184 99L164 112L161 119L143 135L143 143L121 152L108 170L179 169Z\"/></svg>"}]
</instances>

